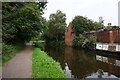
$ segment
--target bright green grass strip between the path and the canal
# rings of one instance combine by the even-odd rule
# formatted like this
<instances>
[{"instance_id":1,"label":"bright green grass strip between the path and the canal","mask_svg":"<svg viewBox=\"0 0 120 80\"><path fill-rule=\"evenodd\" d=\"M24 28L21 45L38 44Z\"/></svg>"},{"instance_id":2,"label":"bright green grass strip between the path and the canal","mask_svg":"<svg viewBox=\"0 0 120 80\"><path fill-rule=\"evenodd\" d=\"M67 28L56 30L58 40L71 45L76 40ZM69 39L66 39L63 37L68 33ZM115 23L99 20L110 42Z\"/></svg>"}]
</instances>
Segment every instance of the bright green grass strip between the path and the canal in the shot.
<instances>
[{"instance_id":1,"label":"bright green grass strip between the path and the canal","mask_svg":"<svg viewBox=\"0 0 120 80\"><path fill-rule=\"evenodd\" d=\"M60 64L44 51L35 48L33 52L32 78L65 78Z\"/></svg>"}]
</instances>

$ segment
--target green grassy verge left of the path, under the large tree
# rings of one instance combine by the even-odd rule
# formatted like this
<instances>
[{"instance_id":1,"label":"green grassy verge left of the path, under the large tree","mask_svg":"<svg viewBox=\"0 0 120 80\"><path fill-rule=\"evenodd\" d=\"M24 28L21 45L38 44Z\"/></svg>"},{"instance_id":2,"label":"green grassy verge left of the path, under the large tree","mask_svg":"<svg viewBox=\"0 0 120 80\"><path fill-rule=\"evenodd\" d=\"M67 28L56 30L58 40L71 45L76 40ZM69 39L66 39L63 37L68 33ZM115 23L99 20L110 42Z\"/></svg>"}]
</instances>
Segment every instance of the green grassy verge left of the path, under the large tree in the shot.
<instances>
[{"instance_id":1,"label":"green grassy verge left of the path, under the large tree","mask_svg":"<svg viewBox=\"0 0 120 80\"><path fill-rule=\"evenodd\" d=\"M5 62L12 59L17 52L22 50L24 48L24 45L8 45L3 44L2 45L2 63L4 65Z\"/></svg>"}]
</instances>

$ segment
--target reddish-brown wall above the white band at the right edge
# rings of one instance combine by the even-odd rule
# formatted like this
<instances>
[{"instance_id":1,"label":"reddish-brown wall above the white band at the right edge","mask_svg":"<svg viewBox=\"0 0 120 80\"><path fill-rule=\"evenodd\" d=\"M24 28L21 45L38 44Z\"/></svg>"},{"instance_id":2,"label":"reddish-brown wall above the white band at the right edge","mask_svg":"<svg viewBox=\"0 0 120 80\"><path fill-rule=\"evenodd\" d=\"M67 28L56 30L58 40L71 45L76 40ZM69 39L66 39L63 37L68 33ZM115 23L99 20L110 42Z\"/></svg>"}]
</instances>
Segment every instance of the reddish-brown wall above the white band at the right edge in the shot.
<instances>
[{"instance_id":1,"label":"reddish-brown wall above the white band at the right edge","mask_svg":"<svg viewBox=\"0 0 120 80\"><path fill-rule=\"evenodd\" d=\"M120 43L120 28L97 32L96 38L97 42Z\"/></svg>"}]
</instances>

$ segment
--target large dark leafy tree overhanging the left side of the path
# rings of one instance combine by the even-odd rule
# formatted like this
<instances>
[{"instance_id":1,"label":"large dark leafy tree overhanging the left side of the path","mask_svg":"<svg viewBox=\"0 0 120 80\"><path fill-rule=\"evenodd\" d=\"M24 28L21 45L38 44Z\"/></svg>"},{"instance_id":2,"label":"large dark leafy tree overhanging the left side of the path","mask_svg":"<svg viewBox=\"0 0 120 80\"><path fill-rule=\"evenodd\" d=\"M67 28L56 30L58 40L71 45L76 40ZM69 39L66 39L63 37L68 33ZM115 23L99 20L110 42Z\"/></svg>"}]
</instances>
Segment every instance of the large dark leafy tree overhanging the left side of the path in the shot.
<instances>
[{"instance_id":1,"label":"large dark leafy tree overhanging the left side of the path","mask_svg":"<svg viewBox=\"0 0 120 80\"><path fill-rule=\"evenodd\" d=\"M3 42L25 42L42 30L43 10L46 3L3 3Z\"/></svg>"}]
</instances>

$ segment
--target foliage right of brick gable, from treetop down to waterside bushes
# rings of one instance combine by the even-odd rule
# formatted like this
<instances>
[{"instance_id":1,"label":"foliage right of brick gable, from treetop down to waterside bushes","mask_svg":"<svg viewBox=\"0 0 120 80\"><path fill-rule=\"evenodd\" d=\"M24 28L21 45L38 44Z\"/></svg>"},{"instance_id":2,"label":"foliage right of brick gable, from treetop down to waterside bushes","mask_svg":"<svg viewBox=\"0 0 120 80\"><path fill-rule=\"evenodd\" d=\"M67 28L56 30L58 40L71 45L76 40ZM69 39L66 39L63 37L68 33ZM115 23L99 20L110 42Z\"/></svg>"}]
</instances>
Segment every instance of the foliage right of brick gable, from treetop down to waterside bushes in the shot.
<instances>
[{"instance_id":1,"label":"foliage right of brick gable, from treetop down to waterside bushes","mask_svg":"<svg viewBox=\"0 0 120 80\"><path fill-rule=\"evenodd\" d=\"M96 38L91 37L90 39L85 38L85 34L90 31L97 31L104 27L104 20L102 17L99 18L99 22L92 21L87 17L75 16L72 21L73 29L75 32L75 38L73 40L73 46L80 46L83 48L94 48Z\"/></svg>"}]
</instances>

